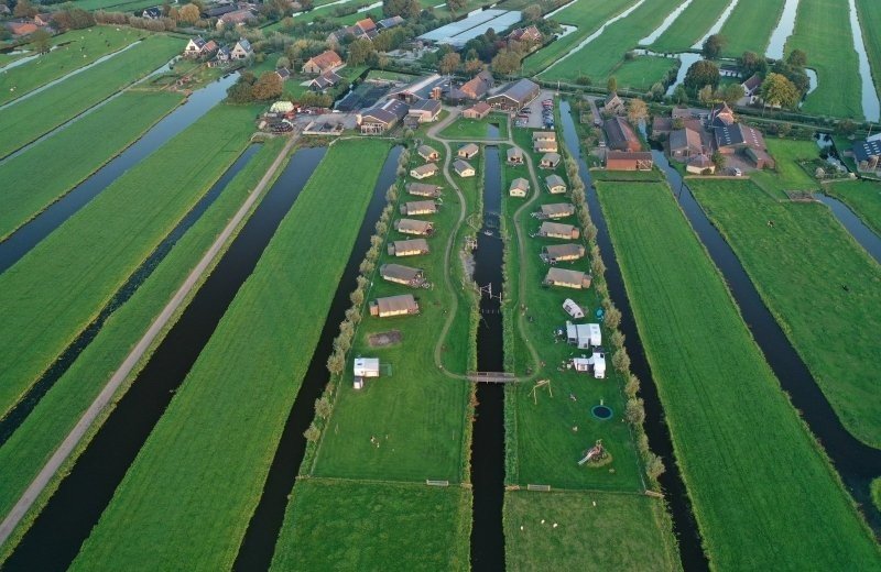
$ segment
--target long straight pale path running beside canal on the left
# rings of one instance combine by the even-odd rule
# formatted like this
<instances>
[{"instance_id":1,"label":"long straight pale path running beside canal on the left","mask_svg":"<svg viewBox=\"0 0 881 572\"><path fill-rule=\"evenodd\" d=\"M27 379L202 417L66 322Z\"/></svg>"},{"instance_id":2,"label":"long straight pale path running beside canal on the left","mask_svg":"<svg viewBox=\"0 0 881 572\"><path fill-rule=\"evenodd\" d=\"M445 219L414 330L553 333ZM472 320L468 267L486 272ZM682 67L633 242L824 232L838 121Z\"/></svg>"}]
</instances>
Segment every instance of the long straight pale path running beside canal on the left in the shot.
<instances>
[{"instance_id":1,"label":"long straight pale path running beside canal on the left","mask_svg":"<svg viewBox=\"0 0 881 572\"><path fill-rule=\"evenodd\" d=\"M248 198L244 199L244 202L242 202L239 210L217 237L217 240L211 243L210 248L205 252L198 264L196 264L196 266L193 268L193 272L189 273L187 278L174 294L165 308L162 309L162 312L160 312L146 332L144 332L140 341L134 345L131 352L129 352L129 354L120 364L119 369L107 382L107 385L104 386L101 393L98 394L88 409L86 409L86 411L79 418L79 421L76 424L74 429L67 435L67 437L65 437L64 441L62 441L61 446L58 446L40 473L34 477L33 481L31 481L31 484L24 491L21 498L19 498L18 503L15 503L15 506L12 507L12 510L10 510L2 524L0 524L0 544L7 541L19 522L21 522L22 518L24 518L24 516L28 514L28 510L30 510L31 506L33 506L40 494L46 488L64 462L83 440L83 437L88 432L91 425L113 398L117 389L119 389L126 378L128 378L129 374L132 372L135 365L138 365L159 334L165 329L166 326L168 326L172 318L184 305L196 285L200 284L205 273L214 266L215 258L220 255L227 241L232 237L232 233L239 227L241 221L244 220L244 218L251 211L251 208L257 202L257 199L263 194L263 190L267 188L267 185L269 185L270 180L274 178L275 173L281 167L297 139L297 136L291 138L291 141L289 141L284 148L282 148L281 153L279 153L279 156L275 157L275 161L267 170L265 175L263 175L263 178L260 179L260 183L258 183L251 194L248 195Z\"/></svg>"}]
</instances>

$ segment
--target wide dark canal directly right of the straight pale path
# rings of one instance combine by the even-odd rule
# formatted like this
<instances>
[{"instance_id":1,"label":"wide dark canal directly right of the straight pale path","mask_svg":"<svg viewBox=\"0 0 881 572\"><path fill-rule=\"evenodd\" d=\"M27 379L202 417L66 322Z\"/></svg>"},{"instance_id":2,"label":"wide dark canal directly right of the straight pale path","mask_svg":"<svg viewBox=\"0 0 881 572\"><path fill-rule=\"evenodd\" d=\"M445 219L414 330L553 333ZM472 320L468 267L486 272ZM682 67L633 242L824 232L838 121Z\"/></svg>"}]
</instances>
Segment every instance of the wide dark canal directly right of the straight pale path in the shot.
<instances>
[{"instance_id":1,"label":"wide dark canal directly right of the straight pale path","mask_svg":"<svg viewBox=\"0 0 881 572\"><path fill-rule=\"evenodd\" d=\"M66 570L326 148L298 151L3 563Z\"/></svg>"}]
</instances>

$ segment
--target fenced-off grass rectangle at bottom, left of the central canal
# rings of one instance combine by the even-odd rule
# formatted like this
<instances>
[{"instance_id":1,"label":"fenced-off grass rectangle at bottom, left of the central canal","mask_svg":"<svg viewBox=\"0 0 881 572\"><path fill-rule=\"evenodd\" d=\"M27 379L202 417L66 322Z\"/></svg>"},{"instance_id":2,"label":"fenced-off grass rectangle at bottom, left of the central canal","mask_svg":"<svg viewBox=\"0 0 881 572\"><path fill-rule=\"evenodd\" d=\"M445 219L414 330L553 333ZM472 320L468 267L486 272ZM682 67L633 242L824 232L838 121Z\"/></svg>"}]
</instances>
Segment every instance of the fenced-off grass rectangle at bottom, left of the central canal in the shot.
<instances>
[{"instance_id":1,"label":"fenced-off grass rectangle at bottom, left of the central canal","mask_svg":"<svg viewBox=\"0 0 881 572\"><path fill-rule=\"evenodd\" d=\"M470 530L467 488L300 480L271 570L467 571Z\"/></svg>"}]
</instances>

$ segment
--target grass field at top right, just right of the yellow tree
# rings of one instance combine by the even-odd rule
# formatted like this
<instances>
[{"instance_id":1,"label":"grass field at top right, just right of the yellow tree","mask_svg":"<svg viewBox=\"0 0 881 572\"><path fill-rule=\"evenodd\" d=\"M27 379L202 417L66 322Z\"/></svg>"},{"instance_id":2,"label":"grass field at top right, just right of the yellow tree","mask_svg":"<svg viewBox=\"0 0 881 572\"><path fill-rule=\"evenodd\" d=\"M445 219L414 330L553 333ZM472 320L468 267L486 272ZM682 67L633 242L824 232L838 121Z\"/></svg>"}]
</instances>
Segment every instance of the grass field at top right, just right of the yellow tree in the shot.
<instances>
[{"instance_id":1,"label":"grass field at top right, just right of the yellow tree","mask_svg":"<svg viewBox=\"0 0 881 572\"><path fill-rule=\"evenodd\" d=\"M862 87L853 50L847 0L798 3L786 54L803 50L807 67L817 70L817 89L805 99L805 113L862 119Z\"/></svg>"}]
</instances>

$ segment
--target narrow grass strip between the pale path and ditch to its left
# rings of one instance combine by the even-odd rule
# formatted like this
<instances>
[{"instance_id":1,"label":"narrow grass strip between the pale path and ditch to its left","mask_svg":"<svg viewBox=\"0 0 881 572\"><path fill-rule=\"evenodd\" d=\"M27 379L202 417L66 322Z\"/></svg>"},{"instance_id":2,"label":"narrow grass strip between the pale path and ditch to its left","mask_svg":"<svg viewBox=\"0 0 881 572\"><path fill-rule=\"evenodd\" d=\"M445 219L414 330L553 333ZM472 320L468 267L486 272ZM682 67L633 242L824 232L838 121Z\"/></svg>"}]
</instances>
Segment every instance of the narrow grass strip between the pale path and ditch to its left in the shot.
<instances>
[{"instance_id":1,"label":"narrow grass strip between the pale path and ditch to its left","mask_svg":"<svg viewBox=\"0 0 881 572\"><path fill-rule=\"evenodd\" d=\"M0 448L0 480L3 482L0 487L0 512L6 514L12 507L42 464L73 429L79 415L162 311L284 143L283 139L275 139L263 145L198 222L174 245L134 296L107 320L98 337ZM68 460L69 464L73 462L74 459ZM32 513L42 507L45 496L40 498ZM7 549L9 546L8 542ZM2 557L0 552L0 560Z\"/></svg>"}]
</instances>

